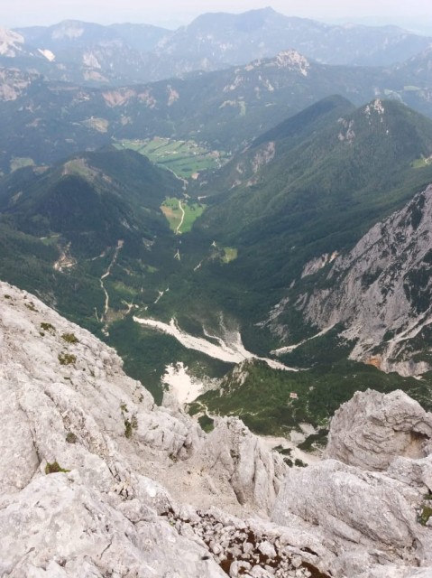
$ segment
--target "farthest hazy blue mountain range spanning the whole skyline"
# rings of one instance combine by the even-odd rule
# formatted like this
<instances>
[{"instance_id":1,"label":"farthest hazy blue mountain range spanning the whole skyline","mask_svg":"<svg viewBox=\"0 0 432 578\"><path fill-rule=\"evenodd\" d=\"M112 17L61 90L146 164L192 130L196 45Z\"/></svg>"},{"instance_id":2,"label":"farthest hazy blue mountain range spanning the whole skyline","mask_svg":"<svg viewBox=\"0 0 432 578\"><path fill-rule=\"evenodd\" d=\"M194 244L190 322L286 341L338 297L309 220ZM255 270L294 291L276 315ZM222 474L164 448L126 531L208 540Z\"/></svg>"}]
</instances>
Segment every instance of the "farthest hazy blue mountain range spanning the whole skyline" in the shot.
<instances>
[{"instance_id":1,"label":"farthest hazy blue mountain range spanning the whole skyline","mask_svg":"<svg viewBox=\"0 0 432 578\"><path fill-rule=\"evenodd\" d=\"M25 59L14 50L11 35L16 33L23 39ZM202 14L177 31L74 20L18 28L3 44L0 35L0 62L11 66L3 57L14 57L14 66L37 70L47 79L120 86L221 70L287 50L326 64L389 66L426 50L431 42L395 26L337 26L264 8Z\"/></svg>"}]
</instances>

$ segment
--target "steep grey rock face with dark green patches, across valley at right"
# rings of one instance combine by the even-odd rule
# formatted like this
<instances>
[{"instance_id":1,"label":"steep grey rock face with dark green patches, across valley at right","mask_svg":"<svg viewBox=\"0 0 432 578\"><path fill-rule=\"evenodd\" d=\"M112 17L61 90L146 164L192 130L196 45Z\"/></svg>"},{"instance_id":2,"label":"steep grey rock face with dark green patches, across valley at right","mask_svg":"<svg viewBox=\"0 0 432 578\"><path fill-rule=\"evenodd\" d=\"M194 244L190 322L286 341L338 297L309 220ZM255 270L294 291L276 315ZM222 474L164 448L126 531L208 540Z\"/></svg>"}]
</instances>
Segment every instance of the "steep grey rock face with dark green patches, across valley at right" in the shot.
<instances>
[{"instance_id":1,"label":"steep grey rock face with dark green patches, across valley at right","mask_svg":"<svg viewBox=\"0 0 432 578\"><path fill-rule=\"evenodd\" d=\"M430 247L432 185L337 256L327 288L302 295L299 309L321 330L342 324L342 335L355 341L352 359L405 376L424 373L429 364L415 356L432 319Z\"/></svg>"}]
</instances>

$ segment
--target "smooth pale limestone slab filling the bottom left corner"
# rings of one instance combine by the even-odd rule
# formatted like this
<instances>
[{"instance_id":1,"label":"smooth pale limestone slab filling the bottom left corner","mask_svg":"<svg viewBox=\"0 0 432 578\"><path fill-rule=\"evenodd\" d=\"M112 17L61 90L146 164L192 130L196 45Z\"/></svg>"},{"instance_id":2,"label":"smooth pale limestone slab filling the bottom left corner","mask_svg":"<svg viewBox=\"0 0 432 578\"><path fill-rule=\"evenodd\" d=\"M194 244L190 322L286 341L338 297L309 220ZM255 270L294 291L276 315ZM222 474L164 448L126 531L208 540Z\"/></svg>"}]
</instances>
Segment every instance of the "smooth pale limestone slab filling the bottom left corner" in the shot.
<instances>
[{"instance_id":1,"label":"smooth pale limestone slab filling the bottom left corner","mask_svg":"<svg viewBox=\"0 0 432 578\"><path fill-rule=\"evenodd\" d=\"M0 511L0 575L179 576L225 574L207 552L156 517L131 522L122 503L89 489L78 472L41 476ZM117 508L115 508L115 505Z\"/></svg>"}]
</instances>

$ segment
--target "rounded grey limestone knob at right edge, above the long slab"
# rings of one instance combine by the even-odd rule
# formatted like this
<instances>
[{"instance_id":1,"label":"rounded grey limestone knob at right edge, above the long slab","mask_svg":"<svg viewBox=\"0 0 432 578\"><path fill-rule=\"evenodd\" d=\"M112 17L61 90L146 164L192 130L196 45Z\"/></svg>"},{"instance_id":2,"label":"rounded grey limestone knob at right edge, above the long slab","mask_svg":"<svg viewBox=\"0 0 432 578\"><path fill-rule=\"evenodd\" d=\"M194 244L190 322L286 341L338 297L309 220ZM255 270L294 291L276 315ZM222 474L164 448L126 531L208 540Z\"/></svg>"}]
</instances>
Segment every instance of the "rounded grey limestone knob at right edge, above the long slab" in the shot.
<instances>
[{"instance_id":1,"label":"rounded grey limestone knob at right edge, above the long slab","mask_svg":"<svg viewBox=\"0 0 432 578\"><path fill-rule=\"evenodd\" d=\"M385 471L396 457L432 452L432 415L402 391L357 392L332 419L326 457Z\"/></svg>"}]
</instances>

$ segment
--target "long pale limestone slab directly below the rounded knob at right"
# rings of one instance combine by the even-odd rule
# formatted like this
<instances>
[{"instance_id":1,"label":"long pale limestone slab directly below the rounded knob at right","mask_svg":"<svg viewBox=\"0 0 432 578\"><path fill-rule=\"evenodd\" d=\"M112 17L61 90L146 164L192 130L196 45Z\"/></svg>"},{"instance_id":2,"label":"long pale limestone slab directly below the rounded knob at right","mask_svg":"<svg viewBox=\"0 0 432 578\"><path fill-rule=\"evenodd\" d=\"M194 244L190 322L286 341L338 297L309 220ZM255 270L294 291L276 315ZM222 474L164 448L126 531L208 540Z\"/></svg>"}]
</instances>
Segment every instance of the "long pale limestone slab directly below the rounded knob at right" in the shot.
<instances>
[{"instance_id":1,"label":"long pale limestone slab directly below the rounded knob at right","mask_svg":"<svg viewBox=\"0 0 432 578\"><path fill-rule=\"evenodd\" d=\"M328 530L328 536L354 544L367 540L375 547L409 548L414 540L423 539L423 528L414 515L420 499L418 489L398 480L326 460L290 471L273 519L284 523L283 509L287 508Z\"/></svg>"}]
</instances>

